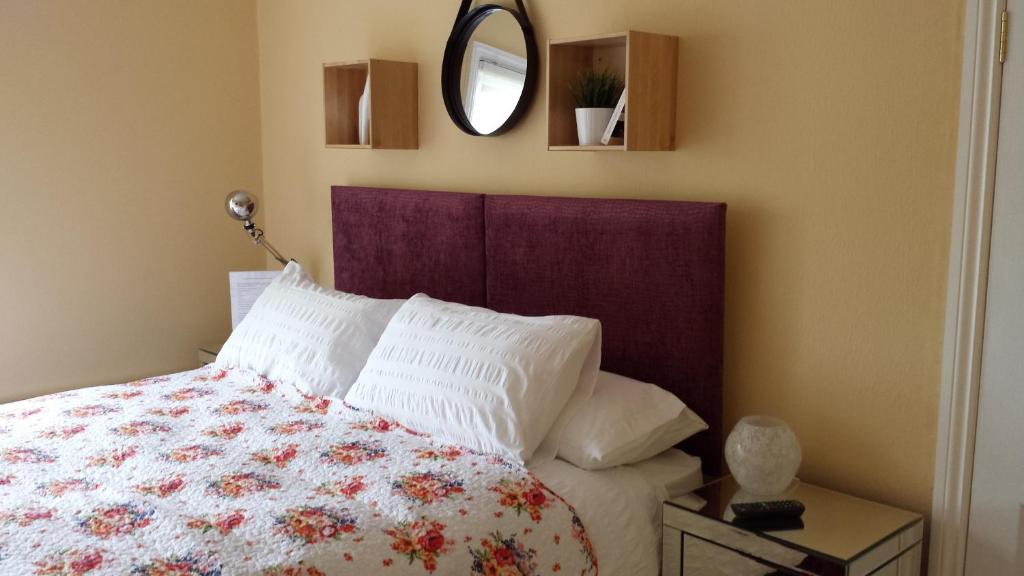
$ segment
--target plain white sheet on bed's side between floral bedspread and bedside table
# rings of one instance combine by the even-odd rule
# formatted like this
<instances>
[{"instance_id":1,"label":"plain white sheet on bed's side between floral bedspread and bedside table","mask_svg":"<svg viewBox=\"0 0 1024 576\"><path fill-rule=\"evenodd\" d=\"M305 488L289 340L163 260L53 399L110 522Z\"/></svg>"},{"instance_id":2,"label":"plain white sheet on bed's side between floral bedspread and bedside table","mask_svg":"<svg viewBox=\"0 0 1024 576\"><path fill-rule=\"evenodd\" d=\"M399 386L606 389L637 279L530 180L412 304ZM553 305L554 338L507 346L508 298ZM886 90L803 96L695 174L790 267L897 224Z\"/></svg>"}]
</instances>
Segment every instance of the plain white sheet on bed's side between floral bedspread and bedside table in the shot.
<instances>
[{"instance_id":1,"label":"plain white sheet on bed's side between floral bedspread and bedside table","mask_svg":"<svg viewBox=\"0 0 1024 576\"><path fill-rule=\"evenodd\" d=\"M677 470L670 488L659 480L666 460L585 470L564 460L530 469L577 510L590 534L602 576L657 576L662 558L662 503L698 488L700 459L673 450Z\"/></svg>"}]
</instances>

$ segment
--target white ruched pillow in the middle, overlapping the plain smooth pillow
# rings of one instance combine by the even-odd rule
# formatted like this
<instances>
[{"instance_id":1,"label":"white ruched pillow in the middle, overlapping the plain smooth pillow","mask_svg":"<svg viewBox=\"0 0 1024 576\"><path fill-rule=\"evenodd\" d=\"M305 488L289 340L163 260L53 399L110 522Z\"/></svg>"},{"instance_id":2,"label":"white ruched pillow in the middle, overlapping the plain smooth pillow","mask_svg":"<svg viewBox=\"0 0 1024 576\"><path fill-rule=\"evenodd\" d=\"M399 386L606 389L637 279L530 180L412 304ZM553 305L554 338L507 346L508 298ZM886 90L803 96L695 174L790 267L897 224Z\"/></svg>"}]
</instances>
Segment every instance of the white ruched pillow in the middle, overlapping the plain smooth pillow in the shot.
<instances>
[{"instance_id":1,"label":"white ruched pillow in the middle, overlapping the plain smooth pillow","mask_svg":"<svg viewBox=\"0 0 1024 576\"><path fill-rule=\"evenodd\" d=\"M391 319L345 402L537 462L554 458L600 363L596 320L499 314L417 294Z\"/></svg>"}]
</instances>

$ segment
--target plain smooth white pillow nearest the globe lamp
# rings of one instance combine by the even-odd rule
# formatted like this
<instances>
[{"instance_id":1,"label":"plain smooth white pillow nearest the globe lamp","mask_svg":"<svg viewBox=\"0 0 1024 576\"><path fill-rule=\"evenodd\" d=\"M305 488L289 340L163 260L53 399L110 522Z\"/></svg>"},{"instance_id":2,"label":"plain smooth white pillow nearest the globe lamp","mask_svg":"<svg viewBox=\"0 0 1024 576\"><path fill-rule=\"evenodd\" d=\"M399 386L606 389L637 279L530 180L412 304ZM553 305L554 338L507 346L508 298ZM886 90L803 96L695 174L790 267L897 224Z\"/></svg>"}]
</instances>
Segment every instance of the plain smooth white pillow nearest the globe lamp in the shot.
<instances>
[{"instance_id":1,"label":"plain smooth white pillow nearest the globe lamp","mask_svg":"<svg viewBox=\"0 0 1024 576\"><path fill-rule=\"evenodd\" d=\"M558 457L596 470L651 458L708 424L672 393L601 371L594 394L562 431Z\"/></svg>"}]
</instances>

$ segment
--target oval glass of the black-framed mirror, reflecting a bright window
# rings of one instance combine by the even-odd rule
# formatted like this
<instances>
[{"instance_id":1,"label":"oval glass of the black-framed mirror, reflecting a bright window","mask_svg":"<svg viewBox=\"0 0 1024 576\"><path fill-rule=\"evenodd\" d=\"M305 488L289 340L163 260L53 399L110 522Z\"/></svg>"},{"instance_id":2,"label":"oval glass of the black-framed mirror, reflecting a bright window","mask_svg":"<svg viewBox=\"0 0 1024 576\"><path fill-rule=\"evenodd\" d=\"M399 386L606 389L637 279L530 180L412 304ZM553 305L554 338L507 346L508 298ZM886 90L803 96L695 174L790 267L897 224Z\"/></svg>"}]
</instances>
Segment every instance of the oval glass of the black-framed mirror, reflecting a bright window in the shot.
<instances>
[{"instance_id":1,"label":"oval glass of the black-framed mirror, reflecting a bright window","mask_svg":"<svg viewBox=\"0 0 1024 576\"><path fill-rule=\"evenodd\" d=\"M526 84L526 40L515 16L492 12L473 31L462 61L462 104L480 134L508 120Z\"/></svg>"}]
</instances>

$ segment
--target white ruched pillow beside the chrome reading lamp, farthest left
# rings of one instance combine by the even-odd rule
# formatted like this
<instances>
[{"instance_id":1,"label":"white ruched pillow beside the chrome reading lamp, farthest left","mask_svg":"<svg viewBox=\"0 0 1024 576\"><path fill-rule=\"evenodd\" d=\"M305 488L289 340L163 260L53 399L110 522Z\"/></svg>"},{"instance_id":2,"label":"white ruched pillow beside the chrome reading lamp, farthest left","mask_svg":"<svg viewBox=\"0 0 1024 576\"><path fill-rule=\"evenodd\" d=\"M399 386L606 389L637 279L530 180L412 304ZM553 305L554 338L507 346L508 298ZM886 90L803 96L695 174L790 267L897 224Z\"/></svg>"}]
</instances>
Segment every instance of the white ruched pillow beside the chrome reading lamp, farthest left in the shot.
<instances>
[{"instance_id":1,"label":"white ruched pillow beside the chrome reading lamp, farthest left","mask_svg":"<svg viewBox=\"0 0 1024 576\"><path fill-rule=\"evenodd\" d=\"M231 332L216 365L344 398L402 301L322 288L289 262Z\"/></svg>"}]
</instances>

